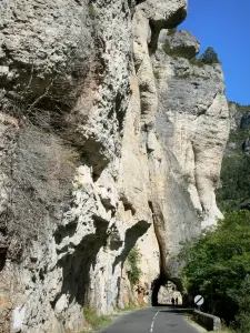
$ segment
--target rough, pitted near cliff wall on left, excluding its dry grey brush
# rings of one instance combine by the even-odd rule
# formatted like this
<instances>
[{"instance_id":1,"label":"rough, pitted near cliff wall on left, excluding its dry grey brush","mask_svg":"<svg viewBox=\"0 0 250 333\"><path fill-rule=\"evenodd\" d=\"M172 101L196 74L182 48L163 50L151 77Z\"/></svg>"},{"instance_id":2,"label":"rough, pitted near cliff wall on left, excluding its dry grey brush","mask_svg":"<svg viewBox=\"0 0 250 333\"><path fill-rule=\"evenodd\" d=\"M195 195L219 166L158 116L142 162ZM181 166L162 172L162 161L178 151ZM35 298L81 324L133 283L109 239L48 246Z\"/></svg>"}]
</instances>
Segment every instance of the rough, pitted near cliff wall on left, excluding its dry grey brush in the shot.
<instances>
[{"instance_id":1,"label":"rough, pitted near cliff wall on left, excluding its dry grey brush","mask_svg":"<svg viewBox=\"0 0 250 333\"><path fill-rule=\"evenodd\" d=\"M139 246L144 249L144 242L154 246L142 260L140 283L147 283L147 292L159 273L146 147L139 130L140 100L131 81L137 80L131 79L132 11L127 1L20 0L1 2L0 13L1 138L13 131L22 135L34 119L41 140L49 129L51 140L62 140L81 154L70 202L57 206L57 219L46 215L44 209L43 231L30 250L23 249L20 265L13 268L10 246L8 252L8 243L2 242L9 259L3 258L1 281L17 269L24 291L22 297L17 287L1 294L10 294L12 306L24 309L23 332L80 331L84 305L99 313L126 305L121 271L129 251L149 229ZM8 118L8 112L13 117ZM17 141L9 141L14 149ZM10 163L4 155L2 160ZM2 174L2 182L12 184L9 176ZM4 213L9 194L2 188ZM130 292L127 273L124 280ZM9 314L8 319L12 310Z\"/></svg>"}]
</instances>

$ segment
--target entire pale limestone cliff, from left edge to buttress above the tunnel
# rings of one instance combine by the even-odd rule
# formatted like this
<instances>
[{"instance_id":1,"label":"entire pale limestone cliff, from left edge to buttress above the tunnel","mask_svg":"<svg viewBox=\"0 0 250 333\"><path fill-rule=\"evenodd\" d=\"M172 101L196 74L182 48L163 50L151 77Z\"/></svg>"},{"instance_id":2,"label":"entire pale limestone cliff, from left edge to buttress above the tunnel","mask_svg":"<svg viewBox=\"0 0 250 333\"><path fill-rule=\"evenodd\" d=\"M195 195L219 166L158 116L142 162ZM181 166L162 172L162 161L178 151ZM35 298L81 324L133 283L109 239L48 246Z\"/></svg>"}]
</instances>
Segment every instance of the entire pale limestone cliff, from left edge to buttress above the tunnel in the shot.
<instances>
[{"instance_id":1,"label":"entire pale limestone cliff, from left edge to buttress above the tunnel","mask_svg":"<svg viewBox=\"0 0 250 333\"><path fill-rule=\"evenodd\" d=\"M1 1L0 332L78 332L83 307L150 302L156 281L179 284L180 242L221 216L223 77L189 62L190 33L167 34L186 14L186 0Z\"/></svg>"}]
</instances>

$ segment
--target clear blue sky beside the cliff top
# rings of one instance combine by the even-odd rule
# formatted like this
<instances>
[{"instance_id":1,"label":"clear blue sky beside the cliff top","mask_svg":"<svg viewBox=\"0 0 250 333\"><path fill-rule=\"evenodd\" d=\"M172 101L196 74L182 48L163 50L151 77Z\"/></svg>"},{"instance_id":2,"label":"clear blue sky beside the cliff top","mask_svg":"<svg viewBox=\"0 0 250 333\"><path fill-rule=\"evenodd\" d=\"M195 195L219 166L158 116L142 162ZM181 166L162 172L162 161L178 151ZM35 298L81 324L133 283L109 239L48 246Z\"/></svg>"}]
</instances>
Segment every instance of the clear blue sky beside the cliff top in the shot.
<instances>
[{"instance_id":1,"label":"clear blue sky beside the cliff top","mask_svg":"<svg viewBox=\"0 0 250 333\"><path fill-rule=\"evenodd\" d=\"M250 0L189 0L180 29L199 39L201 52L210 46L218 52L228 99L250 104Z\"/></svg>"}]
</instances>

